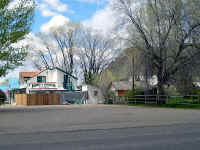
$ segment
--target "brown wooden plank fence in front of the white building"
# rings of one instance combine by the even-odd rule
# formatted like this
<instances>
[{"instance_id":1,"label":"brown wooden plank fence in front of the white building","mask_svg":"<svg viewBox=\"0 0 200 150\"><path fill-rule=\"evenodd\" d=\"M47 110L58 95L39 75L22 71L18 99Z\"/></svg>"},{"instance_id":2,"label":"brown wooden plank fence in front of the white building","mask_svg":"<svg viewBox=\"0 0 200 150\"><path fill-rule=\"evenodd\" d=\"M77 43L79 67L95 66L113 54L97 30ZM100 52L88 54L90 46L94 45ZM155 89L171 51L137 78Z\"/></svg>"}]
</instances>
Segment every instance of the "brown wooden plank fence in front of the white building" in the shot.
<instances>
[{"instance_id":1,"label":"brown wooden plank fence in front of the white building","mask_svg":"<svg viewBox=\"0 0 200 150\"><path fill-rule=\"evenodd\" d=\"M15 94L16 105L59 105L60 94Z\"/></svg>"}]
</instances>

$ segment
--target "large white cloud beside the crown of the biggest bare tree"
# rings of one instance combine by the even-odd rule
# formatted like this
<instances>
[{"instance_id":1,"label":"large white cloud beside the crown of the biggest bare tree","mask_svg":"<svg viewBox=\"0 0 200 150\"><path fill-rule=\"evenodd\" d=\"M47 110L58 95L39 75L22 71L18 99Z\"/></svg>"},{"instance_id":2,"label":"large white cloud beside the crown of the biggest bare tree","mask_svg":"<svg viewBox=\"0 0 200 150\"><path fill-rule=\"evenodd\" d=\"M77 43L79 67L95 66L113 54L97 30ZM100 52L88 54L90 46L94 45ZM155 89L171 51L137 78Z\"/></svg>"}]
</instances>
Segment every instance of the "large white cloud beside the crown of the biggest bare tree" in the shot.
<instances>
[{"instance_id":1,"label":"large white cloud beside the crown of the biggest bare tree","mask_svg":"<svg viewBox=\"0 0 200 150\"><path fill-rule=\"evenodd\" d=\"M113 38L115 49L126 48L125 40L127 38L127 30L124 27L119 28L122 14L117 13L113 6L116 0L108 0L107 6L97 11L92 18L85 20L83 25L93 28L97 32L102 33L105 37Z\"/></svg>"}]
</instances>

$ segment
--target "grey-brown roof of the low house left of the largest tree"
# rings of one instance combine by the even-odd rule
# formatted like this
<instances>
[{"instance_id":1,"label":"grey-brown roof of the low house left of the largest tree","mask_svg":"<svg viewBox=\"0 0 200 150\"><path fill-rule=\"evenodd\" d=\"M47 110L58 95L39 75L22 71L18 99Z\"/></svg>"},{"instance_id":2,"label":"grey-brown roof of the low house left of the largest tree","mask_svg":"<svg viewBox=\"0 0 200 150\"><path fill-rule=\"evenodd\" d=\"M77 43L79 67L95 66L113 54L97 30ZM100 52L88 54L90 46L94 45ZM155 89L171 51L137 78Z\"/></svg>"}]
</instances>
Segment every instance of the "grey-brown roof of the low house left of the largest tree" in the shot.
<instances>
[{"instance_id":1,"label":"grey-brown roof of the low house left of the largest tree","mask_svg":"<svg viewBox=\"0 0 200 150\"><path fill-rule=\"evenodd\" d=\"M132 82L129 81L113 82L111 88L114 88L115 90L131 90Z\"/></svg>"}]
</instances>

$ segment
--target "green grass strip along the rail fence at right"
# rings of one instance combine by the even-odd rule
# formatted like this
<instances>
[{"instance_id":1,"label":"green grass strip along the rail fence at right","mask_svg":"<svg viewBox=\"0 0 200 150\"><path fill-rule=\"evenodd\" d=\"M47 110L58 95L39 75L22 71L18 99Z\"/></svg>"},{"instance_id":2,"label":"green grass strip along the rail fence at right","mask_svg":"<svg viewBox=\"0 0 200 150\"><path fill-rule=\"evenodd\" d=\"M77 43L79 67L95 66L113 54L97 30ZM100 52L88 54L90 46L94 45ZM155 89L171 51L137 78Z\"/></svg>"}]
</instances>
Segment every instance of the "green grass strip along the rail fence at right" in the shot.
<instances>
[{"instance_id":1,"label":"green grass strip along the rail fence at right","mask_svg":"<svg viewBox=\"0 0 200 150\"><path fill-rule=\"evenodd\" d=\"M200 109L200 104L127 104L128 106L143 106L156 108Z\"/></svg>"}]
</instances>

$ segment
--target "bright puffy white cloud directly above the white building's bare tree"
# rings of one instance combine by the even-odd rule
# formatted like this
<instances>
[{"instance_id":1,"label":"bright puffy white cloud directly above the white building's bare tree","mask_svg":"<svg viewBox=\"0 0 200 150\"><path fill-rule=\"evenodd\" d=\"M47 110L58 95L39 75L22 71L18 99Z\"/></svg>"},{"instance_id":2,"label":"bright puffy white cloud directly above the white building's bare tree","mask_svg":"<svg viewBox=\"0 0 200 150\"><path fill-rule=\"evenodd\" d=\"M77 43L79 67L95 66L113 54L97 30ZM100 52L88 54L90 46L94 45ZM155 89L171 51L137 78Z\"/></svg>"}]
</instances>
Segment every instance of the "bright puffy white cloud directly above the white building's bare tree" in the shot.
<instances>
[{"instance_id":1,"label":"bright puffy white cloud directly above the white building's bare tree","mask_svg":"<svg viewBox=\"0 0 200 150\"><path fill-rule=\"evenodd\" d=\"M69 18L58 15L54 16L48 23L41 26L41 32L49 33L52 29L63 26L69 22Z\"/></svg>"}]
</instances>

